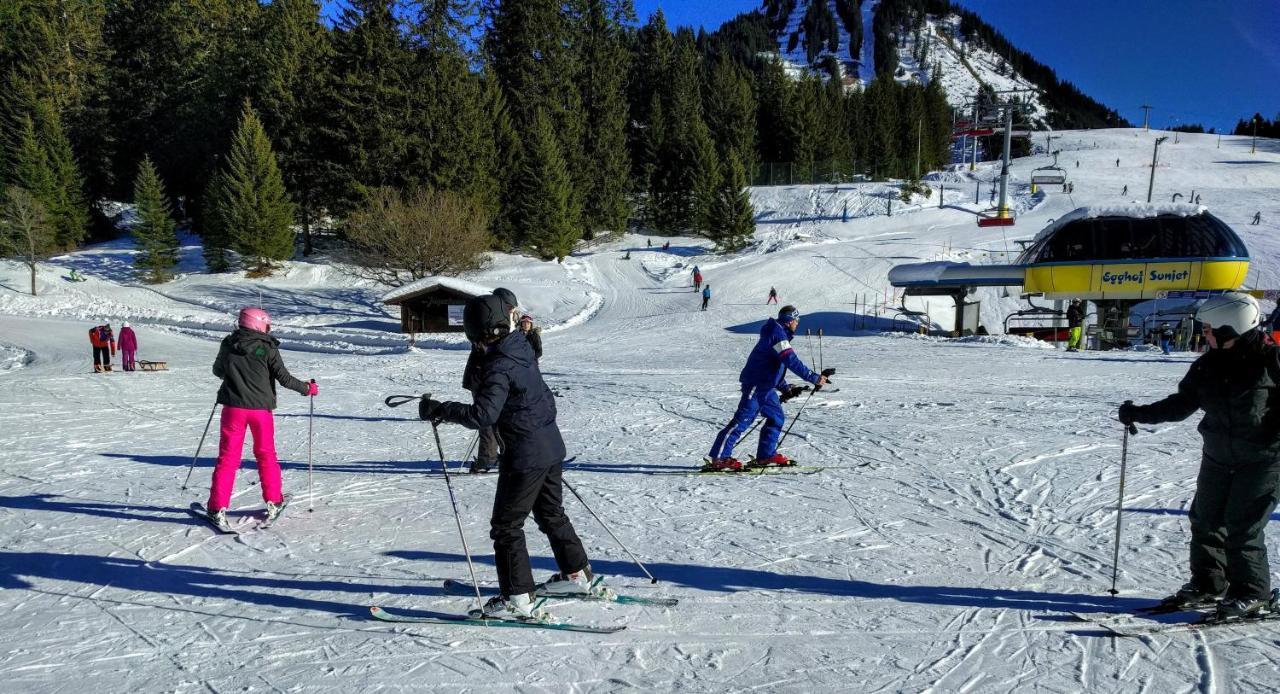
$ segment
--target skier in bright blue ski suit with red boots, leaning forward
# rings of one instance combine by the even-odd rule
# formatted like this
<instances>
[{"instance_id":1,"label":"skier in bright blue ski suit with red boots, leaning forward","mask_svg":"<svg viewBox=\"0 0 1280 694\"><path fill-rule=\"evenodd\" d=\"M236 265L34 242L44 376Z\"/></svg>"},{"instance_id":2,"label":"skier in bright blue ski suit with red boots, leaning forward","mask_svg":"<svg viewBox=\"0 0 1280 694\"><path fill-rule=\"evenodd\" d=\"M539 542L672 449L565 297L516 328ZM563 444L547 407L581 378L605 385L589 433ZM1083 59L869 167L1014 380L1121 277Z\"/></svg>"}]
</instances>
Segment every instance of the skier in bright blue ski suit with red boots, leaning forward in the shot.
<instances>
[{"instance_id":1,"label":"skier in bright blue ski suit with red boots, leaning forward","mask_svg":"<svg viewBox=\"0 0 1280 694\"><path fill-rule=\"evenodd\" d=\"M782 425L786 423L782 399L795 397L800 387L788 385L786 373L790 369L791 373L814 385L827 383L826 376L805 366L791 347L791 338L795 337L797 325L800 325L800 311L795 306L783 306L778 311L778 318L771 318L760 328L760 339L755 343L751 356L746 359L746 366L737 376L742 384L742 399L737 402L733 420L716 435L716 443L712 444L708 456L710 469L741 469L741 462L733 458L733 447L755 421L756 415L764 415L760 443L755 449L756 464L790 464L777 452ZM783 398L778 397L780 393L783 394Z\"/></svg>"}]
</instances>

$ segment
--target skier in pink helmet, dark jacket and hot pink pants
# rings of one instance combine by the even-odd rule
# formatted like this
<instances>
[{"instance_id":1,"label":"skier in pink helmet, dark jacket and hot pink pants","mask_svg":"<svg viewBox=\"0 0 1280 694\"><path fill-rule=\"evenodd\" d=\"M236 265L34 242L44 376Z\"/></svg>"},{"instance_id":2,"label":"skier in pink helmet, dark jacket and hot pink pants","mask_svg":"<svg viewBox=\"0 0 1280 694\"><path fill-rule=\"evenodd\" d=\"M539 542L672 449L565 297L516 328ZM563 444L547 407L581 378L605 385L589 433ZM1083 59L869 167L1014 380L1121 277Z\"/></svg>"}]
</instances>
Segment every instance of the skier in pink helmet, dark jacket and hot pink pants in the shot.
<instances>
[{"instance_id":1,"label":"skier in pink helmet, dark jacket and hot pink pants","mask_svg":"<svg viewBox=\"0 0 1280 694\"><path fill-rule=\"evenodd\" d=\"M262 481L266 516L275 520L284 503L280 490L280 464L275 457L275 384L279 383L303 396L316 396L312 383L293 378L280 359L280 341L271 337L271 316L262 309L242 309L239 328L223 338L214 361L214 375L223 379L218 402L223 406L221 440L218 465L209 489L209 516L218 526L229 528L227 507L230 504L236 471L239 470L244 430L253 434L253 457Z\"/></svg>"}]
</instances>

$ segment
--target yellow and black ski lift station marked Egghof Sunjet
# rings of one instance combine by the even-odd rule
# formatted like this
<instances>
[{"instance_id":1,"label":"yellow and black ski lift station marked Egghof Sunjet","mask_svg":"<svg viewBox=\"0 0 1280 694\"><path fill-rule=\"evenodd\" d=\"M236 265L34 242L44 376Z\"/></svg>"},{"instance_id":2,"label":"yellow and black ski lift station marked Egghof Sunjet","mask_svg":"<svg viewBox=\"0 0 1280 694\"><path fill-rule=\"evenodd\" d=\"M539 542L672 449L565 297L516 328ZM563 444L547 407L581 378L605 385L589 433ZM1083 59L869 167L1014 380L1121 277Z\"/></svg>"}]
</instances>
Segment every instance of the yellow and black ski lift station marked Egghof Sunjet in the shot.
<instances>
[{"instance_id":1,"label":"yellow and black ski lift station marked Egghof Sunjet","mask_svg":"<svg viewBox=\"0 0 1280 694\"><path fill-rule=\"evenodd\" d=\"M897 265L890 283L905 296L950 296L956 333L977 327L979 287L1021 287L1048 300L1080 298L1100 309L1129 309L1169 292L1240 288L1249 252L1240 237L1199 205L1080 207L1051 222L1011 265L916 262Z\"/></svg>"}]
</instances>

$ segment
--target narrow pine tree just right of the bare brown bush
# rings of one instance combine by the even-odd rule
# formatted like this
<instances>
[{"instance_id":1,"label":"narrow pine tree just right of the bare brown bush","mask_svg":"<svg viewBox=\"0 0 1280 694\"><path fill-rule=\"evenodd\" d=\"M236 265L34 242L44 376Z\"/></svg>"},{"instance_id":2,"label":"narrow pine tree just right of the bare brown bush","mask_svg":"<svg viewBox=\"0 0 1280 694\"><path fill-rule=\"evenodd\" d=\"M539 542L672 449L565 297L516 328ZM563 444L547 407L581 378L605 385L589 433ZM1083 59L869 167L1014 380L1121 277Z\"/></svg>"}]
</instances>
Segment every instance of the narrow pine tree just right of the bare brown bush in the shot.
<instances>
[{"instance_id":1,"label":"narrow pine tree just right of the bare brown bush","mask_svg":"<svg viewBox=\"0 0 1280 694\"><path fill-rule=\"evenodd\" d=\"M527 133L512 213L517 234L527 239L543 260L564 260L581 237L570 209L572 187L552 120L538 111L534 128Z\"/></svg>"}]
</instances>

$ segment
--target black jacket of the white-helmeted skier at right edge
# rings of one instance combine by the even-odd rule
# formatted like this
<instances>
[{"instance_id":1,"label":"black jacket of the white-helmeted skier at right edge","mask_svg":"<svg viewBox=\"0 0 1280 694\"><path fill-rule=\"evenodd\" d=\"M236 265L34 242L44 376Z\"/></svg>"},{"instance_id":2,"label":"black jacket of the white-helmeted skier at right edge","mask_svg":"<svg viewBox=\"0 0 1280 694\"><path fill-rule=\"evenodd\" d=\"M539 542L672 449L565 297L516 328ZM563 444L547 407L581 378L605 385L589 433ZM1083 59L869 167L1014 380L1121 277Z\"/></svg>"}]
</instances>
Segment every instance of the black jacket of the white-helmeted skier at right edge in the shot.
<instances>
[{"instance_id":1,"label":"black jacket of the white-helmeted skier at right edge","mask_svg":"<svg viewBox=\"0 0 1280 694\"><path fill-rule=\"evenodd\" d=\"M1181 421L1204 411L1204 457L1226 467L1280 464L1280 348L1251 330L1230 350L1197 359L1178 392L1134 408L1143 424Z\"/></svg>"}]
</instances>

